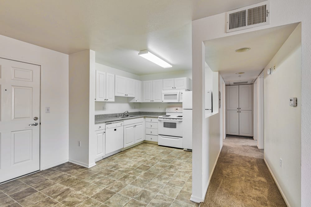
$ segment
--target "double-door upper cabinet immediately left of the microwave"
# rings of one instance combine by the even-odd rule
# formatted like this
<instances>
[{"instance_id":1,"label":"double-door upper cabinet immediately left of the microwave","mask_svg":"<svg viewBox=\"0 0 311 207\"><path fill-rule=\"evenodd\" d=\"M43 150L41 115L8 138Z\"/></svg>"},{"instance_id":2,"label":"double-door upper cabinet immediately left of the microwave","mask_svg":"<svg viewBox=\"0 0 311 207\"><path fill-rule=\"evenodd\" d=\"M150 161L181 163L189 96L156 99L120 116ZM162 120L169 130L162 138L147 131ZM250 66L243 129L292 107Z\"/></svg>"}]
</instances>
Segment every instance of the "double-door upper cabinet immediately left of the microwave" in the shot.
<instances>
[{"instance_id":1,"label":"double-door upper cabinet immediately left of the microwave","mask_svg":"<svg viewBox=\"0 0 311 207\"><path fill-rule=\"evenodd\" d=\"M163 80L143 81L143 102L162 102Z\"/></svg>"}]
</instances>

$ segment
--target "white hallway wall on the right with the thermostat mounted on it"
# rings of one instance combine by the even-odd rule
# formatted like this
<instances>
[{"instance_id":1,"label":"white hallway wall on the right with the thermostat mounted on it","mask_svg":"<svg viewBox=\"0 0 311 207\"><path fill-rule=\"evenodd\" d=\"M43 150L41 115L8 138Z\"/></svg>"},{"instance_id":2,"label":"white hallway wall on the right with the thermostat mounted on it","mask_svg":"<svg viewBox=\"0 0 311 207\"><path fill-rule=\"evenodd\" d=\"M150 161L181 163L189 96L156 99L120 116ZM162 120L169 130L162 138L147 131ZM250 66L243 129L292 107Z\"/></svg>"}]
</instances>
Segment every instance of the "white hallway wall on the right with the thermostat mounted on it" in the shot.
<instances>
[{"instance_id":1,"label":"white hallway wall on the right with the thermostat mounted on it","mask_svg":"<svg viewBox=\"0 0 311 207\"><path fill-rule=\"evenodd\" d=\"M276 71L268 75L268 68L274 64ZM265 160L289 206L300 206L301 24L264 71ZM289 106L290 97L297 97L297 107Z\"/></svg>"}]
</instances>

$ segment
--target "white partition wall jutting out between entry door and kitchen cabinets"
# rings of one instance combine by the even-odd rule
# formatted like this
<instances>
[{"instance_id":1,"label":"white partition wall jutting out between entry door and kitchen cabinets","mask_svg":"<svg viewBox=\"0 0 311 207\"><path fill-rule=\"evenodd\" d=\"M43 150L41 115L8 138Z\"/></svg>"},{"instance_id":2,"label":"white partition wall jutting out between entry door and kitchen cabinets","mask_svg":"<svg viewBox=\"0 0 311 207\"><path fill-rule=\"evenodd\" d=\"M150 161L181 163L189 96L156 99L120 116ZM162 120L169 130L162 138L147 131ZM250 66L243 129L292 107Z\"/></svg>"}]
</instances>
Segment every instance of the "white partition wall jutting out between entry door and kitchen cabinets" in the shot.
<instances>
[{"instance_id":1,"label":"white partition wall jutting out between entry door and kitchen cabinets","mask_svg":"<svg viewBox=\"0 0 311 207\"><path fill-rule=\"evenodd\" d=\"M84 167L95 165L94 100L95 52L69 55L69 161ZM81 98L82 97L82 98ZM81 146L78 146L81 141ZM94 152L94 153L93 153Z\"/></svg>"}]
</instances>

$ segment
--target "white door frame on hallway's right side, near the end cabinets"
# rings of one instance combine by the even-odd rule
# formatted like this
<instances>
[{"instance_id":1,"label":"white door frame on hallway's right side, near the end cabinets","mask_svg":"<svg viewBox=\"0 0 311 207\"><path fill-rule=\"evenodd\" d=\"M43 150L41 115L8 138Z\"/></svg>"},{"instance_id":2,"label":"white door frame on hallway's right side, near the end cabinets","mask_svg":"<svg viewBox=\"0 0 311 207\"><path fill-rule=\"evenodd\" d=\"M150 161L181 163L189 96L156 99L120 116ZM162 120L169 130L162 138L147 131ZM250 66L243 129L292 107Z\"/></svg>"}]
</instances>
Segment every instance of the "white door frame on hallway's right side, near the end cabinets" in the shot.
<instances>
[{"instance_id":1,"label":"white door frame on hallway's right side, near the end cabinets","mask_svg":"<svg viewBox=\"0 0 311 207\"><path fill-rule=\"evenodd\" d=\"M258 76L258 149L264 149L264 75L263 72Z\"/></svg>"}]
</instances>

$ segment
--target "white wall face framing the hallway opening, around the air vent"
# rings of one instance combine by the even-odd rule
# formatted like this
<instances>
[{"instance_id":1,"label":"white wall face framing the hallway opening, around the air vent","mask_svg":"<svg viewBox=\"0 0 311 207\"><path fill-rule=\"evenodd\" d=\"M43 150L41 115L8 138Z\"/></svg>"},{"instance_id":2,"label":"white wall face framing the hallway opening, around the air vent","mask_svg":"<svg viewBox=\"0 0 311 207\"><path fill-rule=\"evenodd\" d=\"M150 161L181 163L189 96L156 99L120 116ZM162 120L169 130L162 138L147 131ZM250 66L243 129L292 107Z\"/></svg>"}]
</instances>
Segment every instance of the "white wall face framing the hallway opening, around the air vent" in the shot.
<instances>
[{"instance_id":1,"label":"white wall face framing the hallway opening, around the air vent","mask_svg":"<svg viewBox=\"0 0 311 207\"><path fill-rule=\"evenodd\" d=\"M309 0L273 0L270 1L270 24L240 31L225 32L226 14L221 13L218 15L194 20L192 22L192 54L193 54L193 99L197 102L202 101L202 87L204 83L204 44L202 41L220 38L240 33L246 33L259 29L266 29L296 22L302 22L302 85L301 85L301 205L311 206L311 18L309 16L309 8L311 1ZM211 29L212 28L212 29ZM193 103L196 108L193 110L193 137L198 137L193 143L193 160L202 159L202 149L196 148L195 145L200 145L202 139L202 104ZM197 130L197 131L195 131ZM196 151L195 151L196 150ZM200 176L202 169L196 166L193 175ZM193 178L195 178L193 176ZM199 188L200 183L194 183L193 189ZM203 193L193 190L193 196L203 196Z\"/></svg>"}]
</instances>

